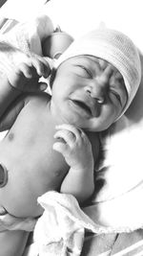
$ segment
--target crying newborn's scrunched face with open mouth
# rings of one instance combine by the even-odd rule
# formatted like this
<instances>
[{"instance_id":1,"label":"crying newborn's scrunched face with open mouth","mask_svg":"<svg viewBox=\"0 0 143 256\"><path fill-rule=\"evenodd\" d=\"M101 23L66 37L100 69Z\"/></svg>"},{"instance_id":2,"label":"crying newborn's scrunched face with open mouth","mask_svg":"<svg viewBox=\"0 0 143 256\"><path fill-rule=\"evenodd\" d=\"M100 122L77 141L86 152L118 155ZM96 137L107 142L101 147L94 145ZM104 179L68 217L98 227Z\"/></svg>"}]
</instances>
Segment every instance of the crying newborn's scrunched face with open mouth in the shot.
<instances>
[{"instance_id":1,"label":"crying newborn's scrunched face with open mouth","mask_svg":"<svg viewBox=\"0 0 143 256\"><path fill-rule=\"evenodd\" d=\"M92 131L109 128L127 103L121 74L106 60L69 58L56 73L51 105L63 123Z\"/></svg>"}]
</instances>

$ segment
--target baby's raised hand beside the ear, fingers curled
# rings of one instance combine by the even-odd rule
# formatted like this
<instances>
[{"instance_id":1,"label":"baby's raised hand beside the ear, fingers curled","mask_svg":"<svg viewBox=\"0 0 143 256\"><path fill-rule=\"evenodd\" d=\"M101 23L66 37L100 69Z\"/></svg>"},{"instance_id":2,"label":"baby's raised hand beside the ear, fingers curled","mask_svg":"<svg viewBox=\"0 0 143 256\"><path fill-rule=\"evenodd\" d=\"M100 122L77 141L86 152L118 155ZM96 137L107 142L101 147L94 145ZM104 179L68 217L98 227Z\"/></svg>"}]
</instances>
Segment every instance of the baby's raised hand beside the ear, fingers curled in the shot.
<instances>
[{"instance_id":1,"label":"baby's raised hand beside the ear, fingers curled","mask_svg":"<svg viewBox=\"0 0 143 256\"><path fill-rule=\"evenodd\" d=\"M12 87L24 92L45 90L47 83L39 82L39 78L48 78L51 74L49 62L40 56L25 56L23 62L13 67L7 73L8 80Z\"/></svg>"}]
</instances>

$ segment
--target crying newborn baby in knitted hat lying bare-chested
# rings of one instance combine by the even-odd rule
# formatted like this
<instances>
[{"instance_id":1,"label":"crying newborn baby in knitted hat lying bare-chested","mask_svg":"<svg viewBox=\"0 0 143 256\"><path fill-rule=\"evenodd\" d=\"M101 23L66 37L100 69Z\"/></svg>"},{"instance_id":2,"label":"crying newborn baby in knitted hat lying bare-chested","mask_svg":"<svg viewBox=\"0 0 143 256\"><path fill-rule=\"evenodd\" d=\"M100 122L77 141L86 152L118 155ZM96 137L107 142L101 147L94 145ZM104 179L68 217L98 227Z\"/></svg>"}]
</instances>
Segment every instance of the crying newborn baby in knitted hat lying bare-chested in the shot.
<instances>
[{"instance_id":1,"label":"crying newborn baby in knitted hat lying bare-chested","mask_svg":"<svg viewBox=\"0 0 143 256\"><path fill-rule=\"evenodd\" d=\"M2 81L3 97L11 101L17 87L48 77L50 67L41 62L29 58L10 72ZM15 217L38 217L43 210L37 198L50 190L72 194L79 203L90 198L102 143L96 131L109 128L126 111L140 78L131 39L94 30L55 62L51 95L29 93L5 104L1 130L9 132L0 143L2 210Z\"/></svg>"}]
</instances>

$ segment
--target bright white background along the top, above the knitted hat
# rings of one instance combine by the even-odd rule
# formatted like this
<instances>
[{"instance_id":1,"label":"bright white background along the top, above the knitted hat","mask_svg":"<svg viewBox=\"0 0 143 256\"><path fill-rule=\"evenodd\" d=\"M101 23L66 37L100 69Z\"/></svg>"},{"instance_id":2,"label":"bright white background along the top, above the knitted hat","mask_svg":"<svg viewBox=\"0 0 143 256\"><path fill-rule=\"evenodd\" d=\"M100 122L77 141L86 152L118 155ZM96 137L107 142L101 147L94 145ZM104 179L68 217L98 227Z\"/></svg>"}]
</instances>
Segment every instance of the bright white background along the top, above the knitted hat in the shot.
<instances>
[{"instance_id":1,"label":"bright white background along the top, above the knitted hat","mask_svg":"<svg viewBox=\"0 0 143 256\"><path fill-rule=\"evenodd\" d=\"M63 30L78 36L105 22L132 37L143 48L142 0L8 0L0 14L27 20L46 12Z\"/></svg>"}]
</instances>

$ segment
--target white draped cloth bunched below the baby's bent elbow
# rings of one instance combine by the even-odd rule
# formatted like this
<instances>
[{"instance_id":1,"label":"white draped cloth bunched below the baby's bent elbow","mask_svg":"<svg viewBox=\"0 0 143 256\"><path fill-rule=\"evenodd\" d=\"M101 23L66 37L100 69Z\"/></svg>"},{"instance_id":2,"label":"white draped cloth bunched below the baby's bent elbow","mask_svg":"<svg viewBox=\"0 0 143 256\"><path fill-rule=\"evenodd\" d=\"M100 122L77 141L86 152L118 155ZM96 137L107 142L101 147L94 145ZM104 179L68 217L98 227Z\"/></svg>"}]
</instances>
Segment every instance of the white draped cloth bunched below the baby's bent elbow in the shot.
<instances>
[{"instance_id":1,"label":"white draped cloth bunched below the baby's bent elbow","mask_svg":"<svg viewBox=\"0 0 143 256\"><path fill-rule=\"evenodd\" d=\"M85 231L95 234L116 232L110 226L92 221L72 195L51 191L38 198L38 202L45 209L33 232L39 256L77 256L82 251Z\"/></svg>"}]
</instances>

